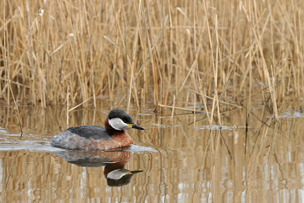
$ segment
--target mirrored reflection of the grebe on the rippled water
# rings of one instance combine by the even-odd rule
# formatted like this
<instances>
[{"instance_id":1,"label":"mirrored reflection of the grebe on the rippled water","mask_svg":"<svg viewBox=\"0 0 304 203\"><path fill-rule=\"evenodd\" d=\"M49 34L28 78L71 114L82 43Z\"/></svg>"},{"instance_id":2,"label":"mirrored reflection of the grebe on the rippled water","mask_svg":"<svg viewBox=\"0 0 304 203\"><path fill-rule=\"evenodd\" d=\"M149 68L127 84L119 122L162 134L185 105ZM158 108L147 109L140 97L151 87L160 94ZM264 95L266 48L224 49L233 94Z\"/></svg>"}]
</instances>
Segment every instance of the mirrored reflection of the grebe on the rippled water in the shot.
<instances>
[{"instance_id":1,"label":"mirrored reflection of the grebe on the rippled water","mask_svg":"<svg viewBox=\"0 0 304 203\"><path fill-rule=\"evenodd\" d=\"M122 186L131 182L134 174L142 170L130 171L124 169L126 163L131 160L132 152L84 152L84 151L61 151L55 152L69 163L80 167L101 167L105 166L103 174L109 186Z\"/></svg>"}]
</instances>

